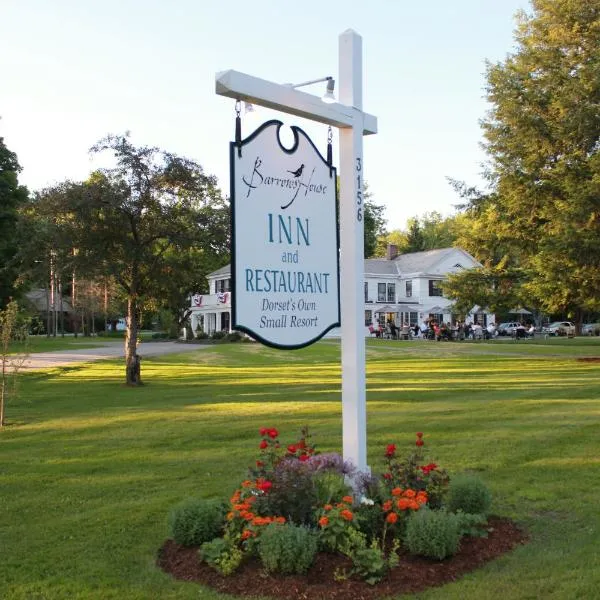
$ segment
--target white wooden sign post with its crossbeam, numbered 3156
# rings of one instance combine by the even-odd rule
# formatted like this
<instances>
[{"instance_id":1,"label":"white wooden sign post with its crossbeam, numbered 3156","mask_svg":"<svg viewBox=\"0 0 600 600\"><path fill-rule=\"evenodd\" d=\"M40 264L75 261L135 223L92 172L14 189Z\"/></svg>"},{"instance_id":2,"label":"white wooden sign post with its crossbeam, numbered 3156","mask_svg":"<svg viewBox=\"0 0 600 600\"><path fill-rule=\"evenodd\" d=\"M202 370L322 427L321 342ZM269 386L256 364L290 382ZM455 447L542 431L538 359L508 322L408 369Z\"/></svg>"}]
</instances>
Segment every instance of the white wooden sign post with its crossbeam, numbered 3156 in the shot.
<instances>
[{"instance_id":1,"label":"white wooden sign post with its crossbeam, numbered 3156","mask_svg":"<svg viewBox=\"0 0 600 600\"><path fill-rule=\"evenodd\" d=\"M342 320L343 454L368 470L364 336L364 199L362 136L377 133L376 117L362 111L362 39L339 37L340 102L237 71L216 76L216 93L325 123L340 130L340 303Z\"/></svg>"}]
</instances>

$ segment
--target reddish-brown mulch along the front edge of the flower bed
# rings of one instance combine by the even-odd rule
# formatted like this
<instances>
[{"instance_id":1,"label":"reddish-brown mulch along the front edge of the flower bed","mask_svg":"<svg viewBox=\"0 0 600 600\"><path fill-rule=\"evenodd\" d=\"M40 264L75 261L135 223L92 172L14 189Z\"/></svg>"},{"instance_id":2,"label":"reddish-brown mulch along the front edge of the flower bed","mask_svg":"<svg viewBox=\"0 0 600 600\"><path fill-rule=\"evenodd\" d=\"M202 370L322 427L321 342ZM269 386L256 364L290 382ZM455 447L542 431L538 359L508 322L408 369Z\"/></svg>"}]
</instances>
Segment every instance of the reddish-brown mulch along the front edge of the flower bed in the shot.
<instances>
[{"instance_id":1,"label":"reddish-brown mulch along the front edge of the flower bed","mask_svg":"<svg viewBox=\"0 0 600 600\"><path fill-rule=\"evenodd\" d=\"M354 578L336 581L334 573L348 573L352 564L343 556L325 553L317 556L306 575L269 575L258 560L251 559L233 575L223 577L200 562L197 548L186 548L167 540L158 551L157 565L176 579L197 581L235 596L260 595L282 600L374 600L455 581L527 541L527 534L509 519L492 517L488 527L487 538L463 538L458 553L443 561L401 555L398 567L376 585Z\"/></svg>"}]
</instances>

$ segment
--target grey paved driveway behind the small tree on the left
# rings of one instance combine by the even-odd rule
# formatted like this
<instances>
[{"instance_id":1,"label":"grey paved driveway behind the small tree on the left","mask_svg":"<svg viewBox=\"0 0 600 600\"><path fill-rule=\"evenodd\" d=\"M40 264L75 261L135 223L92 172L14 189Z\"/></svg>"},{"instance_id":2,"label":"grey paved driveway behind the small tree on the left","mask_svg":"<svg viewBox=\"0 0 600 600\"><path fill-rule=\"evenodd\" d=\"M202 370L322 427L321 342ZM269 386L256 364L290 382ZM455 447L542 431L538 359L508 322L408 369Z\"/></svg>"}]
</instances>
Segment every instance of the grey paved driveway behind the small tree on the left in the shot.
<instances>
[{"instance_id":1,"label":"grey paved driveway behind the small tree on the left","mask_svg":"<svg viewBox=\"0 0 600 600\"><path fill-rule=\"evenodd\" d=\"M208 348L208 345L178 344L177 342L143 342L138 348L138 353L143 358L145 356L193 352L195 350L202 350L203 348ZM56 350L54 352L36 352L27 357L21 369L50 369L52 367L123 357L125 357L123 342L105 342L98 348L71 348L69 350Z\"/></svg>"}]
</instances>

